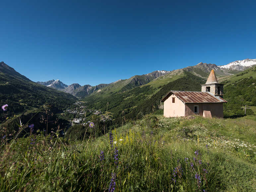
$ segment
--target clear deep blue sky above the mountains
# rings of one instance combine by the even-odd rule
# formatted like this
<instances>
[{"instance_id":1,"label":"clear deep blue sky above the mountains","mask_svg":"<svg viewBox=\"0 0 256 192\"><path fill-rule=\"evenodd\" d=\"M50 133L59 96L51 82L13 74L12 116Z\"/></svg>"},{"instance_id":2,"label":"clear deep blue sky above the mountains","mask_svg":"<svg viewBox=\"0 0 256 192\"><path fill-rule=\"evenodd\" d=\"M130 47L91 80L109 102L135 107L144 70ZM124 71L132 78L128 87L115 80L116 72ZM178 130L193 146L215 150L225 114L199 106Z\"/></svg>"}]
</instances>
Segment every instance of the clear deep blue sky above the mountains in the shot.
<instances>
[{"instance_id":1,"label":"clear deep blue sky above the mountains","mask_svg":"<svg viewBox=\"0 0 256 192\"><path fill-rule=\"evenodd\" d=\"M32 81L97 85L256 58L255 1L1 1L0 61Z\"/></svg>"}]
</instances>

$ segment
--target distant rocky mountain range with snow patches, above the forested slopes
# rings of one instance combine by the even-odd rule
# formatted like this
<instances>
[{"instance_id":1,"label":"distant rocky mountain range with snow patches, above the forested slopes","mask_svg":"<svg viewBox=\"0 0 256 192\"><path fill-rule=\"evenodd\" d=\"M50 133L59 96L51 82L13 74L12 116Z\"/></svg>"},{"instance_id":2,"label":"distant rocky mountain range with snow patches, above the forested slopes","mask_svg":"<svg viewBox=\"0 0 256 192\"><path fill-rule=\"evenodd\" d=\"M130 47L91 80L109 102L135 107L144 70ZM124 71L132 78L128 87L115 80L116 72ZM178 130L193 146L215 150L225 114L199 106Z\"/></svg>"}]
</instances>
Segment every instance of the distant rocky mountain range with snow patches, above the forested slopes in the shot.
<instances>
[{"instance_id":1,"label":"distant rocky mountain range with snow patches, above the forested slopes","mask_svg":"<svg viewBox=\"0 0 256 192\"><path fill-rule=\"evenodd\" d=\"M214 69L218 77L223 77L223 76L237 74L240 71L243 71L255 64L256 64L256 59L244 59L241 61L234 61L227 65L222 65L222 66L200 62L197 65L185 67L183 69L177 69L173 71L164 71L164 70L154 71L152 73L148 73L145 75L135 75L129 79L125 79L125 80L120 79L110 84L99 84L96 86L91 86L91 85L81 86L77 83L67 86L59 80L56 80L56 81L50 80L47 82L37 82L37 83L63 91L65 93L70 93L73 96L76 96L79 98L83 98L85 96L91 95L94 92L98 93L106 90L127 91L135 87L146 85L150 82L154 82L156 80L159 81L161 79L169 79L171 77L175 77L176 75L181 75L183 71L190 72L202 78L207 78L211 70ZM106 88L106 89L103 89L103 88Z\"/></svg>"}]
</instances>

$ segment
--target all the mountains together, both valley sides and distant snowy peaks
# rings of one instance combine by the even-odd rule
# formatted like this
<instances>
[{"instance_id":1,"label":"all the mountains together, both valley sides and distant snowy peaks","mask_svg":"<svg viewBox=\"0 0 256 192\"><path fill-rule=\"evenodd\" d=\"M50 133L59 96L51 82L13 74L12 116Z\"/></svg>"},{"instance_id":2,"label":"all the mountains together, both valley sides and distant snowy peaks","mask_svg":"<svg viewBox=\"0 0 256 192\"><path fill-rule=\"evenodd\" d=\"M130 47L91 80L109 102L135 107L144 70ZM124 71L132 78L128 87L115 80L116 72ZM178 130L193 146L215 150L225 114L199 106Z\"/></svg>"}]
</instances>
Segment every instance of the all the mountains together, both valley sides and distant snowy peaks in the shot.
<instances>
[{"instance_id":1,"label":"all the mountains together, both valley sides and distant snowy peaks","mask_svg":"<svg viewBox=\"0 0 256 192\"><path fill-rule=\"evenodd\" d=\"M254 93L253 83L256 79L256 69L250 67L254 64L256 64L255 59L232 62L224 66L201 62L173 71L154 71L145 75L135 75L110 84L67 86L59 80L32 82L12 67L0 62L0 105L8 104L9 107L6 113L0 110L0 121L5 120L6 115L14 117L15 114L33 112L39 108L42 110L42 107L49 105L54 106L56 112L60 112L80 97L87 103L89 109L110 112L115 123L120 124L124 117L126 119L139 118L161 108L160 99L169 90L200 91L200 84L205 83L212 69L215 70L220 81L231 86L229 90L236 90L236 87L232 87L233 84L245 79L245 83L251 90L248 91L248 86L245 86L245 91L240 91L240 93L238 90L234 93ZM230 79L233 80L230 82ZM248 82L247 79L249 79ZM229 100L231 101L234 97L232 95ZM237 97L232 102L236 103L238 100L241 99ZM244 96L243 100L248 101L248 104L256 102L250 94ZM240 105L241 103L237 104L235 110L238 110Z\"/></svg>"}]
</instances>

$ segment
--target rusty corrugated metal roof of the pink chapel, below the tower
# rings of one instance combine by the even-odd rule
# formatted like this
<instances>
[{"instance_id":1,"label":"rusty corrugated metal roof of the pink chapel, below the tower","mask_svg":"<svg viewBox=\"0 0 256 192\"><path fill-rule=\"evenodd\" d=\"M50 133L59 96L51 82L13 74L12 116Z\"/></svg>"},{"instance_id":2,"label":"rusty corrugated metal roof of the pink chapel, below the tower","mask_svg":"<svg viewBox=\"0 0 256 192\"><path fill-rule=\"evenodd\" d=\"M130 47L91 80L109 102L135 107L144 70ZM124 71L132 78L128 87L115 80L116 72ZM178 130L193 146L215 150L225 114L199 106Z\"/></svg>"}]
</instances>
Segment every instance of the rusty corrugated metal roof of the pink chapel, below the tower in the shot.
<instances>
[{"instance_id":1,"label":"rusty corrugated metal roof of the pink chapel, below the tower","mask_svg":"<svg viewBox=\"0 0 256 192\"><path fill-rule=\"evenodd\" d=\"M227 101L219 96L214 96L210 92L196 91L170 91L162 98L162 102L174 94L184 103L226 103Z\"/></svg>"}]
</instances>

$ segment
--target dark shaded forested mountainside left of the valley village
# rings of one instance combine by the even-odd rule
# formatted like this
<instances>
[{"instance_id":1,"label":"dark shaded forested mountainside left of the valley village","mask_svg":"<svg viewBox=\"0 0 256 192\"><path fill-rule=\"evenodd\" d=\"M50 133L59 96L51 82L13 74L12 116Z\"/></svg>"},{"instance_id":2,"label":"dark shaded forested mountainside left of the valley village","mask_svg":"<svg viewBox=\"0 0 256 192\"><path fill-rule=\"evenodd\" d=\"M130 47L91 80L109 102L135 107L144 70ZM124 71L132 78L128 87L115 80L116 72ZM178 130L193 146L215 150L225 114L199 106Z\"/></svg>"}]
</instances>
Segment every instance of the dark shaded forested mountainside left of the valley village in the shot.
<instances>
[{"instance_id":1,"label":"dark shaded forested mountainside left of the valley village","mask_svg":"<svg viewBox=\"0 0 256 192\"><path fill-rule=\"evenodd\" d=\"M0 106L8 104L7 111L0 110L0 122L42 105L52 105L55 111L60 111L76 100L70 94L34 83L4 62L0 63Z\"/></svg>"}]
</instances>

